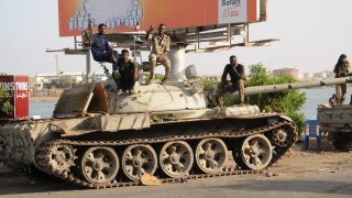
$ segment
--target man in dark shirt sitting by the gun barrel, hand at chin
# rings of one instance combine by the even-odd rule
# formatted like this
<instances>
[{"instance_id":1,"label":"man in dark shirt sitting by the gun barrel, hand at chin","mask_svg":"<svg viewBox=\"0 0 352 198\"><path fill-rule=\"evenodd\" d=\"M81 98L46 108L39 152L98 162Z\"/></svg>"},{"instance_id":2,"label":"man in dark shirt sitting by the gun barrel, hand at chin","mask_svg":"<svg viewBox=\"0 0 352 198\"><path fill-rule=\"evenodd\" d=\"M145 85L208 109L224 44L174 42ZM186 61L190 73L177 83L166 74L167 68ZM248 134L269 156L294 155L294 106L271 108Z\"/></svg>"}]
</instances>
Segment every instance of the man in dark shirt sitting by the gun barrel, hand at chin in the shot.
<instances>
[{"instance_id":1,"label":"man in dark shirt sitting by the gun barrel, hand at chin","mask_svg":"<svg viewBox=\"0 0 352 198\"><path fill-rule=\"evenodd\" d=\"M230 75L230 81L227 79L228 75ZM219 106L221 106L220 99L226 91L234 92L237 90L239 91L240 106L244 106L245 82L244 66L238 64L238 59L234 55L230 56L230 64L226 65L221 76L221 82L218 85Z\"/></svg>"}]
</instances>

